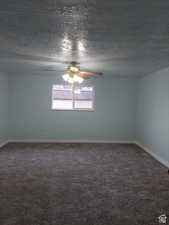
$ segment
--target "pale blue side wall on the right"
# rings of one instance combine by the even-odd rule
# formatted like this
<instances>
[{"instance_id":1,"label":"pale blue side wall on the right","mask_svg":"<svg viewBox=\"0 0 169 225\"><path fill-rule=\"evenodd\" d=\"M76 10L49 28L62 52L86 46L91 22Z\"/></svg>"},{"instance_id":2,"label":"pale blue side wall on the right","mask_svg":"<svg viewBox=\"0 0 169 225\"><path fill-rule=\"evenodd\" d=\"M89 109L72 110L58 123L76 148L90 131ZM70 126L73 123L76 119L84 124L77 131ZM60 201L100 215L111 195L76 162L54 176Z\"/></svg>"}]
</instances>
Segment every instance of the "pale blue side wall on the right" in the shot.
<instances>
[{"instance_id":1,"label":"pale blue side wall on the right","mask_svg":"<svg viewBox=\"0 0 169 225\"><path fill-rule=\"evenodd\" d=\"M169 162L169 68L139 82L137 139Z\"/></svg>"}]
</instances>

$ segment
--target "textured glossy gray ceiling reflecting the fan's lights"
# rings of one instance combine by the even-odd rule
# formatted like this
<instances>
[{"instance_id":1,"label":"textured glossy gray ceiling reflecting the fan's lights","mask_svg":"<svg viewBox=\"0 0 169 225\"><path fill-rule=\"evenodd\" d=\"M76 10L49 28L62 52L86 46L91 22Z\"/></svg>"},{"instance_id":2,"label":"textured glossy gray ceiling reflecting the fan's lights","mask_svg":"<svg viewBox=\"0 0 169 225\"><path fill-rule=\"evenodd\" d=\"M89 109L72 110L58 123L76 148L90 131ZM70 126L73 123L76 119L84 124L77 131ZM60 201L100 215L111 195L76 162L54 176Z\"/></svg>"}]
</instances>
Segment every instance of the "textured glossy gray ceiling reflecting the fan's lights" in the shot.
<instances>
[{"instance_id":1,"label":"textured glossy gray ceiling reflecting the fan's lights","mask_svg":"<svg viewBox=\"0 0 169 225\"><path fill-rule=\"evenodd\" d=\"M169 66L169 1L1 0L0 70L144 76ZM111 72L111 73L110 73Z\"/></svg>"}]
</instances>

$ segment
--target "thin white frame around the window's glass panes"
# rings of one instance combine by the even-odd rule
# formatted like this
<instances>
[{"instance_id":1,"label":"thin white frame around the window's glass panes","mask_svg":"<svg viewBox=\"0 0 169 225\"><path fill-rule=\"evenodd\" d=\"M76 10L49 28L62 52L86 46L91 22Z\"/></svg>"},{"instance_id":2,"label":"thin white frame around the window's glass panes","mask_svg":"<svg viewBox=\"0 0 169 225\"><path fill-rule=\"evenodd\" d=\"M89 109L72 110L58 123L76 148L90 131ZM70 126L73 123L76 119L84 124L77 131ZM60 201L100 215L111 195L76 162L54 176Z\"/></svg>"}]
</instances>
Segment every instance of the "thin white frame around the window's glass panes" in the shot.
<instances>
[{"instance_id":1,"label":"thin white frame around the window's glass panes","mask_svg":"<svg viewBox=\"0 0 169 225\"><path fill-rule=\"evenodd\" d=\"M53 86L55 86L55 85L62 85L62 86L64 86L64 84L53 84L52 85L52 94L51 94L51 110L53 111L89 111L89 112L93 112L94 110L95 110L95 88L94 88L94 86L93 85L84 85L84 86L79 86L79 87L91 87L92 89L93 89L93 91L92 91L92 108L90 109L90 108L74 108L74 99L72 99L72 101L73 101L73 108L72 109L55 109L55 108L53 108ZM70 85L71 86L71 85ZM73 88L75 88L76 86L73 86Z\"/></svg>"}]
</instances>

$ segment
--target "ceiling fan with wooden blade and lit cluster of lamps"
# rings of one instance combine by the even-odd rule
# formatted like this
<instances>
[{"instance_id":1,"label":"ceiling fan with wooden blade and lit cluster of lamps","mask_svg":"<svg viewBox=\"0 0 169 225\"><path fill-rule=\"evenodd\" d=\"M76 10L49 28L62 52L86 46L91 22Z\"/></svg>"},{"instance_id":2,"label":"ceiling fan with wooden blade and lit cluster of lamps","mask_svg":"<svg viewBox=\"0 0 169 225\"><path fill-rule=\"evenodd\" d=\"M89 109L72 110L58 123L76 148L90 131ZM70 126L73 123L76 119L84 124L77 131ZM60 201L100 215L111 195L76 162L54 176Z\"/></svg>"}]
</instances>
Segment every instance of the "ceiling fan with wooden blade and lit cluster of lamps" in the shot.
<instances>
[{"instance_id":1,"label":"ceiling fan with wooden blade and lit cluster of lamps","mask_svg":"<svg viewBox=\"0 0 169 225\"><path fill-rule=\"evenodd\" d=\"M82 83L84 80L89 79L89 76L102 76L102 72L81 72L79 63L71 62L68 66L67 73L63 74L63 79L70 83Z\"/></svg>"}]
</instances>

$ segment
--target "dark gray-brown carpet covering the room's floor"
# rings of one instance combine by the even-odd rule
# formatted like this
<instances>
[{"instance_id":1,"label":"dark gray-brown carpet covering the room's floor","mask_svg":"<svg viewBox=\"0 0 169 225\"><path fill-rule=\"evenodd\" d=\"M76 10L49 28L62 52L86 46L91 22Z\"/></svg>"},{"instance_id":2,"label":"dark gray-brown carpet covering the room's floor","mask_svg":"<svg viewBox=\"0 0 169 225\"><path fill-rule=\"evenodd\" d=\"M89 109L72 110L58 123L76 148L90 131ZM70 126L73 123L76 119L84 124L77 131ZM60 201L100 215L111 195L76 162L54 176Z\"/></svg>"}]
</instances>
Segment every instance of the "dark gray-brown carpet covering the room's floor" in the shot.
<instances>
[{"instance_id":1,"label":"dark gray-brown carpet covering the room's floor","mask_svg":"<svg viewBox=\"0 0 169 225\"><path fill-rule=\"evenodd\" d=\"M156 225L163 213L167 168L135 145L0 149L0 225Z\"/></svg>"}]
</instances>

